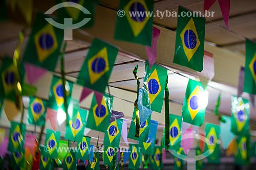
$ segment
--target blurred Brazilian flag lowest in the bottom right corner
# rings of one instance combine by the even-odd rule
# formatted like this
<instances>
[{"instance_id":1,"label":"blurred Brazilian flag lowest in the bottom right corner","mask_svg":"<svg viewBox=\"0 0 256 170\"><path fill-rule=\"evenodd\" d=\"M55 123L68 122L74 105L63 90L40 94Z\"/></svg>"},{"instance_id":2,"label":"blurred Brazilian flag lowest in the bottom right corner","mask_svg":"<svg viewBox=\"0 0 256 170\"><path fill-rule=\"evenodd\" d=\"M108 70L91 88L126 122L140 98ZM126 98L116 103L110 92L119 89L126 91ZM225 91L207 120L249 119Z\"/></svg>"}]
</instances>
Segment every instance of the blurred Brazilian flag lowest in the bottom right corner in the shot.
<instances>
[{"instance_id":1,"label":"blurred Brazilian flag lowest in the bottom right corner","mask_svg":"<svg viewBox=\"0 0 256 170\"><path fill-rule=\"evenodd\" d=\"M234 154L234 162L239 165L245 165L247 162L247 138L245 136L238 137L237 140L237 152Z\"/></svg>"}]
</instances>

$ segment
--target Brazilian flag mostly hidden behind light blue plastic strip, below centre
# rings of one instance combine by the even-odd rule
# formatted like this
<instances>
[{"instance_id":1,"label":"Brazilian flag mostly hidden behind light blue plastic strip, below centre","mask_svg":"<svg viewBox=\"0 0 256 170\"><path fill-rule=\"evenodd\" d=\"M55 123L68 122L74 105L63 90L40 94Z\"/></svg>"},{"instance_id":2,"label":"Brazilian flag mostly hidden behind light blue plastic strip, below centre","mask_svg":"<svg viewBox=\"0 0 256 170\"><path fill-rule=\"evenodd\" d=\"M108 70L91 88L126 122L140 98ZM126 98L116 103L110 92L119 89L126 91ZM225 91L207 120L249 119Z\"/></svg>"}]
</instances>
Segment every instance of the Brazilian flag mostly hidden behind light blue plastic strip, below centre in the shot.
<instances>
[{"instance_id":1,"label":"Brazilian flag mostly hidden behind light blue plastic strip, below centre","mask_svg":"<svg viewBox=\"0 0 256 170\"><path fill-rule=\"evenodd\" d=\"M127 135L127 138L134 139L134 140L142 140L145 136L147 136L148 131L150 130L150 124L151 124L151 116L146 119L146 121L141 124L140 123L140 129L139 129L139 137L135 137L136 133L136 113L135 109L133 111L133 118L131 122L131 126Z\"/></svg>"}]
</instances>

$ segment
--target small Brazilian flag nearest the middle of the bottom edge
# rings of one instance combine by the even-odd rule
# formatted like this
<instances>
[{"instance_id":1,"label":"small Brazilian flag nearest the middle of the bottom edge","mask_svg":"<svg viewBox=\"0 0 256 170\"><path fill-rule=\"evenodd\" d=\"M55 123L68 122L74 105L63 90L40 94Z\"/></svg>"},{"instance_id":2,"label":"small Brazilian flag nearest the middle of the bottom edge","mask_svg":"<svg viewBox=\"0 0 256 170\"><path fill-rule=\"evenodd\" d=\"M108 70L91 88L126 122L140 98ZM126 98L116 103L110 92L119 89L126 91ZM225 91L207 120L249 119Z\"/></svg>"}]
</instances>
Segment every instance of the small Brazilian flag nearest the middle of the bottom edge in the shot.
<instances>
[{"instance_id":1,"label":"small Brazilian flag nearest the middle of the bottom edge","mask_svg":"<svg viewBox=\"0 0 256 170\"><path fill-rule=\"evenodd\" d=\"M129 164L128 168L129 169L138 169L140 166L141 162L141 153L139 153L139 148L138 144L129 144L129 151L130 151L130 156L129 156Z\"/></svg>"}]
</instances>

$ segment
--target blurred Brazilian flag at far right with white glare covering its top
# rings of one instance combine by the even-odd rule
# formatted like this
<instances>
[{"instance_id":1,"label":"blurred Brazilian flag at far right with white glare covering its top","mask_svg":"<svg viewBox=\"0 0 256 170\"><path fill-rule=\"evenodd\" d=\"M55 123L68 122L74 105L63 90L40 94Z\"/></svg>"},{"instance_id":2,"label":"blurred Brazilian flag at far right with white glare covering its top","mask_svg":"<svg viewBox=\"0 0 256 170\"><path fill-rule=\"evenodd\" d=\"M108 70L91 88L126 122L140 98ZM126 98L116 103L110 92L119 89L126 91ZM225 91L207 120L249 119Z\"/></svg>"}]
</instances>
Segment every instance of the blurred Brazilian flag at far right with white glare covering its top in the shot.
<instances>
[{"instance_id":1,"label":"blurred Brazilian flag at far right with white glare covering its top","mask_svg":"<svg viewBox=\"0 0 256 170\"><path fill-rule=\"evenodd\" d=\"M238 136L249 134L250 126L249 101L232 96L231 99L231 131Z\"/></svg>"}]
</instances>

